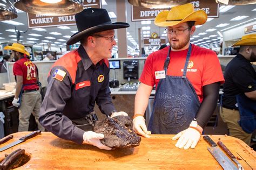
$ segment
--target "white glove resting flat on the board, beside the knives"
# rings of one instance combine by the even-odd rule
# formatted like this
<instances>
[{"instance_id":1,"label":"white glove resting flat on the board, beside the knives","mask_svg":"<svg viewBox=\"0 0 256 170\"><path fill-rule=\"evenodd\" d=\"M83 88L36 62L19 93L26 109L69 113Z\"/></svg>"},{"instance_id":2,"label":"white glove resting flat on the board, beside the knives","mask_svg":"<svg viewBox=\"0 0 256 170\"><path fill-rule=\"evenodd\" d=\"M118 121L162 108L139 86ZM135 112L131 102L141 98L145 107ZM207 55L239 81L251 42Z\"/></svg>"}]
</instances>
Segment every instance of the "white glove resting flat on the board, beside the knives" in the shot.
<instances>
[{"instance_id":1,"label":"white glove resting flat on the board, beside the knives","mask_svg":"<svg viewBox=\"0 0 256 170\"><path fill-rule=\"evenodd\" d=\"M177 140L176 147L184 148L187 150L188 148L195 148L201 134L193 128L187 128L184 131L179 132L176 136L172 137L172 140Z\"/></svg>"}]
</instances>

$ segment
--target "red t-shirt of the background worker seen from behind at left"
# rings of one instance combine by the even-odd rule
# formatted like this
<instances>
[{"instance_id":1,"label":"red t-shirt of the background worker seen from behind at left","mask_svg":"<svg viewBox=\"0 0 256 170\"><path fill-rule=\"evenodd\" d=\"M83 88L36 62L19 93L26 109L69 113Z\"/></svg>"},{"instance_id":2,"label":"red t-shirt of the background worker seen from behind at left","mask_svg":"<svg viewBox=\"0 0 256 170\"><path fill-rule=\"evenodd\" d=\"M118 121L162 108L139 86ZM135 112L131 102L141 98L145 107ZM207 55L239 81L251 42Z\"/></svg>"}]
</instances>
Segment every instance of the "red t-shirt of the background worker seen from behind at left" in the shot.
<instances>
[{"instance_id":1,"label":"red t-shirt of the background worker seen from behind at left","mask_svg":"<svg viewBox=\"0 0 256 170\"><path fill-rule=\"evenodd\" d=\"M23 85L24 84L31 84L28 86L24 86L23 90L32 90L38 89L39 86L37 83L36 78L36 65L32 63L28 58L23 57L14 63L13 68L14 75L23 76Z\"/></svg>"}]
</instances>

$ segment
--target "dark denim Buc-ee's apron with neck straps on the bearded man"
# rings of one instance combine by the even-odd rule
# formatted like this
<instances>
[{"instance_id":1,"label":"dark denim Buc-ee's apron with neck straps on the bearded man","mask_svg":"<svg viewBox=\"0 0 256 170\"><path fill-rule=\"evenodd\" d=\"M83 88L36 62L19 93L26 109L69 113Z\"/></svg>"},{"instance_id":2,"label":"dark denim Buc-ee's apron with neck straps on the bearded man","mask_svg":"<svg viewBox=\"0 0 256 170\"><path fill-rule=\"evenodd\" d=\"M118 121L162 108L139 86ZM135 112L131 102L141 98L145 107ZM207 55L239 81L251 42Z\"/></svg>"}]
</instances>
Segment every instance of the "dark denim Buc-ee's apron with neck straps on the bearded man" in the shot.
<instances>
[{"instance_id":1,"label":"dark denim Buc-ee's apron with neck straps on the bearded man","mask_svg":"<svg viewBox=\"0 0 256 170\"><path fill-rule=\"evenodd\" d=\"M187 129L196 117L200 102L192 84L186 78L191 49L190 44L183 76L169 76L166 74L170 62L171 46L169 48L164 63L166 78L158 83L149 122L149 130L154 134L176 134Z\"/></svg>"}]
</instances>

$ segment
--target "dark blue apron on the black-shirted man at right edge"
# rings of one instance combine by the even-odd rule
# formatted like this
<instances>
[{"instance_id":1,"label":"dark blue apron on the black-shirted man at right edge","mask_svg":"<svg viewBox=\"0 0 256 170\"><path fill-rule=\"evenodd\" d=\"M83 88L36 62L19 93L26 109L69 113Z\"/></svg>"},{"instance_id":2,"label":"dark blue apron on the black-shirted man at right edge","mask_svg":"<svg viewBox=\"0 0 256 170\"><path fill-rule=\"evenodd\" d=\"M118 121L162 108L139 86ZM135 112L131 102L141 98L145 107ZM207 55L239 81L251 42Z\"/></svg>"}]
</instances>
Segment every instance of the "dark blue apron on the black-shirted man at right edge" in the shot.
<instances>
[{"instance_id":1,"label":"dark blue apron on the black-shirted man at right edge","mask_svg":"<svg viewBox=\"0 0 256 170\"><path fill-rule=\"evenodd\" d=\"M236 98L240 115L238 124L246 133L252 133L256 129L256 101L246 97L244 93Z\"/></svg>"}]
</instances>

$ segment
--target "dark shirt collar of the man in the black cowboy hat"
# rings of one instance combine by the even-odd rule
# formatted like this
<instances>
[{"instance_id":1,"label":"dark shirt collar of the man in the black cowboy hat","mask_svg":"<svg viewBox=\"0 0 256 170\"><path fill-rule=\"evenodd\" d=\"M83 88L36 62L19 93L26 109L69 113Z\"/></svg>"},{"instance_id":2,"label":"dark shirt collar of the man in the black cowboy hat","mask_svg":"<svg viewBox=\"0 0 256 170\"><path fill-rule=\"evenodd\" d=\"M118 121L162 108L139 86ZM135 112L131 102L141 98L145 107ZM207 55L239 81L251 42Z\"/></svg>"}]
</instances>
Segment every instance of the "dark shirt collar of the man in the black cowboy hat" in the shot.
<instances>
[{"instance_id":1,"label":"dark shirt collar of the man in the black cowboy hat","mask_svg":"<svg viewBox=\"0 0 256 170\"><path fill-rule=\"evenodd\" d=\"M78 48L78 54L80 55L83 65L84 65L84 69L87 70L89 67L98 67L99 65L103 64L103 60L100 60L96 66L92 63L92 60L89 58L88 54L86 53L84 47L82 45L79 46Z\"/></svg>"}]
</instances>

